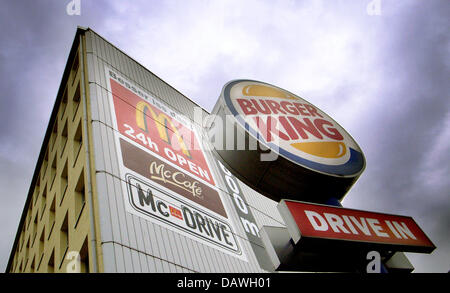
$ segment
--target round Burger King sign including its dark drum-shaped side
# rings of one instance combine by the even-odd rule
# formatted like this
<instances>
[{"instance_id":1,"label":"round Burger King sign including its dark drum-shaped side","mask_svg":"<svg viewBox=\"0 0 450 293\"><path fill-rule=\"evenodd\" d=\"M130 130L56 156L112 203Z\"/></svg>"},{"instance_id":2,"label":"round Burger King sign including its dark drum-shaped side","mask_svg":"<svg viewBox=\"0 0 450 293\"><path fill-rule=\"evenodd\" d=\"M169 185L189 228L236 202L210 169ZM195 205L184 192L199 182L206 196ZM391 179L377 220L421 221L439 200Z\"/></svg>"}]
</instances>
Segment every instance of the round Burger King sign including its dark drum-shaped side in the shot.
<instances>
[{"instance_id":1,"label":"round Burger King sign including its dark drum-shaped side","mask_svg":"<svg viewBox=\"0 0 450 293\"><path fill-rule=\"evenodd\" d=\"M241 180L273 199L342 198L364 170L361 149L338 123L276 86L231 81L224 86L213 114L234 119L247 145L256 140L263 146L216 150ZM267 148L277 154L276 159L262 159Z\"/></svg>"}]
</instances>

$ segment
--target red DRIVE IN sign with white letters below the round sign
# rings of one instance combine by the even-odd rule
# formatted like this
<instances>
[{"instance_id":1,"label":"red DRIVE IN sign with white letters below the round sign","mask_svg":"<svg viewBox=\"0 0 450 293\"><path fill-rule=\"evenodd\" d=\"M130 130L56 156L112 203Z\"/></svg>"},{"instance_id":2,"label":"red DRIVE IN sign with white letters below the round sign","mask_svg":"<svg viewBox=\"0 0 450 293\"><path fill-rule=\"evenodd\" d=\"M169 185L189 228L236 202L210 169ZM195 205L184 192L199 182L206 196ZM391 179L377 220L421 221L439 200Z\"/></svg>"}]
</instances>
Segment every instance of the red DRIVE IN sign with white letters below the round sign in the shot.
<instances>
[{"instance_id":1,"label":"red DRIVE IN sign with white letters below the round sign","mask_svg":"<svg viewBox=\"0 0 450 293\"><path fill-rule=\"evenodd\" d=\"M306 237L401 246L403 251L435 249L411 217L290 200L278 208L296 243Z\"/></svg>"}]
</instances>

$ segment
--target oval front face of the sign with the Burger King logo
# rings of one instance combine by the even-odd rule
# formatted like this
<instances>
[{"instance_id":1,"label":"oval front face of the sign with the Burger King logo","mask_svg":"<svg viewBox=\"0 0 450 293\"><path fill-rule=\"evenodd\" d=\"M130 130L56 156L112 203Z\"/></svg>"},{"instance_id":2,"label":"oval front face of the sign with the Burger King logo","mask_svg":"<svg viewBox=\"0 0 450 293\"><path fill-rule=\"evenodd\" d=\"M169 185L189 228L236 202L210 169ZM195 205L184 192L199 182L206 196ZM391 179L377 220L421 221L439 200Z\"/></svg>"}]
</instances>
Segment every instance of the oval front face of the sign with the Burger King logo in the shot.
<instances>
[{"instance_id":1,"label":"oval front face of the sign with the Burger King logo","mask_svg":"<svg viewBox=\"0 0 450 293\"><path fill-rule=\"evenodd\" d=\"M229 82L223 97L250 135L292 162L336 176L352 177L363 171L365 160L358 144L306 100L253 80Z\"/></svg>"}]
</instances>

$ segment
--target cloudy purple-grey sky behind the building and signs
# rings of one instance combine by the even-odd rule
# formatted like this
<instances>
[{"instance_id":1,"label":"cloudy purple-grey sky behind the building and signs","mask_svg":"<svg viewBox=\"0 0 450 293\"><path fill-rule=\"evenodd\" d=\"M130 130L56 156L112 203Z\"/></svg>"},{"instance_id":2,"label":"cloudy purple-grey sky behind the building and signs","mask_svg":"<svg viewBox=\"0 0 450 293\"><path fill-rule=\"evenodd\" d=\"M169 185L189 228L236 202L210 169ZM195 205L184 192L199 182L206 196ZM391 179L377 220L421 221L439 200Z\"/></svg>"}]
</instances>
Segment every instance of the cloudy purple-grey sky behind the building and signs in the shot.
<instances>
[{"instance_id":1,"label":"cloudy purple-grey sky behind the building and signs","mask_svg":"<svg viewBox=\"0 0 450 293\"><path fill-rule=\"evenodd\" d=\"M450 270L450 2L0 0L0 270L4 271L77 25L208 111L229 80L296 93L359 143L344 206L412 216ZM368 9L369 5L369 9Z\"/></svg>"}]
</instances>

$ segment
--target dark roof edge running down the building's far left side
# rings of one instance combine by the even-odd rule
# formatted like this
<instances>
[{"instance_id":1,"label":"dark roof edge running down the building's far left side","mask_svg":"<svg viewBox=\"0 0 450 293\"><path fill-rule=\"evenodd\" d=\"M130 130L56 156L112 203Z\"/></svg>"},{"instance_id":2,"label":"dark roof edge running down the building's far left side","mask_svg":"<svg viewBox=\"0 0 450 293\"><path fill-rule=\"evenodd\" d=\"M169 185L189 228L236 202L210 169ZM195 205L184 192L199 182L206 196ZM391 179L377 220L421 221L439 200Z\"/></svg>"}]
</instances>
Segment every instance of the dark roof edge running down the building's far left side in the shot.
<instances>
[{"instance_id":1,"label":"dark roof edge running down the building's far left side","mask_svg":"<svg viewBox=\"0 0 450 293\"><path fill-rule=\"evenodd\" d=\"M69 78L69 74L70 74L70 70L71 70L72 62L70 62L70 60L73 60L75 58L76 50L77 50L78 45L80 43L80 36L83 35L87 30L88 30L87 28L84 28L84 27L81 27L81 26L77 27L77 30L76 30L76 33L75 33L75 38L74 38L73 43L72 43L72 48L70 49L70 53L69 53L69 56L68 56L67 62L66 62L66 67L64 68L64 73L63 73L61 82L59 84L59 89L58 89L58 93L56 95L55 104L53 105L53 110L52 110L52 113L50 115L50 119L49 119L49 122L48 122L48 125L47 125L47 130L45 132L44 140L42 142L41 151L39 152L39 157L38 157L38 160L36 162L36 167L34 169L33 177L31 179L30 188L28 190L28 195L27 195L27 198L25 200L25 206L23 208L22 216L20 218L19 226L17 228L16 237L14 239L14 244L12 246L11 253L9 255L8 264L7 264L6 270L5 270L6 273L8 273L10 271L12 263L13 263L13 260L14 260L14 251L15 251L15 249L17 247L18 242L19 242L20 233L22 231L23 225L25 224L25 218L27 216L28 208L30 206L31 199L33 197L34 187L35 187L36 181L37 181L37 179L39 177L39 172L40 172L40 168L39 167L42 165L42 161L44 159L45 152L47 150L48 141L50 139L50 135L51 135L52 130L53 130L53 124L54 124L54 121L56 121L56 116L58 115L59 104L61 102L62 96L64 94L64 89L65 89L65 87L63 85L65 85L67 79Z\"/></svg>"}]
</instances>

